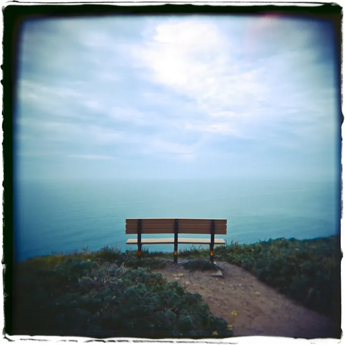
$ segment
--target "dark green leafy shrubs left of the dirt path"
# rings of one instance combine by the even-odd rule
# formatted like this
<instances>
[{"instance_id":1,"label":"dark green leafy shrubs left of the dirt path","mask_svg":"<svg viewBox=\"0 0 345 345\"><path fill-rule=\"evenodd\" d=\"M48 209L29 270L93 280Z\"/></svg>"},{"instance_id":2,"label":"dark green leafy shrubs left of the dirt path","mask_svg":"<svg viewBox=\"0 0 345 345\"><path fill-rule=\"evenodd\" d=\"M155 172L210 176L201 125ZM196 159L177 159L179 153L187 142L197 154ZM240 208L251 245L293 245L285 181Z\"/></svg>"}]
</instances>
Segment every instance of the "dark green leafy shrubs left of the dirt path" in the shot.
<instances>
[{"instance_id":1,"label":"dark green leafy shrubs left of the dirt path","mask_svg":"<svg viewBox=\"0 0 345 345\"><path fill-rule=\"evenodd\" d=\"M54 269L18 265L16 272L14 334L205 338L216 331L222 337L233 335L199 294L147 269L70 258Z\"/></svg>"}]
</instances>

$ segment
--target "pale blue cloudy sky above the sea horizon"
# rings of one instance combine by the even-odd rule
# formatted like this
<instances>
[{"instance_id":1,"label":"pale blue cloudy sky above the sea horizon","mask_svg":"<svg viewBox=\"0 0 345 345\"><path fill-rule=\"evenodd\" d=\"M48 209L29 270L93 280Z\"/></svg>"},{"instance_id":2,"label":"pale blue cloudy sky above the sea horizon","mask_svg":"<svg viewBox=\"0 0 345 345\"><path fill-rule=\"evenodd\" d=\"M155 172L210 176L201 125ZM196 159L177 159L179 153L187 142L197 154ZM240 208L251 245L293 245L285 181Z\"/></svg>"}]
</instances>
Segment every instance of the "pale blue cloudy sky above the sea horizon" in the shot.
<instances>
[{"instance_id":1,"label":"pale blue cloudy sky above the sea horizon","mask_svg":"<svg viewBox=\"0 0 345 345\"><path fill-rule=\"evenodd\" d=\"M332 178L333 35L277 15L27 20L17 176Z\"/></svg>"}]
</instances>

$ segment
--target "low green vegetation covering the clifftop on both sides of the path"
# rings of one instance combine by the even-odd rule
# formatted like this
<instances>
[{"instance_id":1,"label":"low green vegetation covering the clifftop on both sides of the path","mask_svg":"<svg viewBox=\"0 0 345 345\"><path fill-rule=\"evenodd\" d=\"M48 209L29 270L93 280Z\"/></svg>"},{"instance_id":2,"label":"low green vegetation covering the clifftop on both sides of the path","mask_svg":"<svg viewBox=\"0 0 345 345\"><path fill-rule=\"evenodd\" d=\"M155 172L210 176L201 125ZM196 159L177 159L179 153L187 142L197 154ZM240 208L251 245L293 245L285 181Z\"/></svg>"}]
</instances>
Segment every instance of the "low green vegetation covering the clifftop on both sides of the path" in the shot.
<instances>
[{"instance_id":1,"label":"low green vegetation covering the clifftop on both sides of the path","mask_svg":"<svg viewBox=\"0 0 345 345\"><path fill-rule=\"evenodd\" d=\"M306 307L340 322L340 237L276 239L217 246L215 261L241 266ZM151 269L172 253L104 247L37 257L16 265L14 334L92 338L233 336L199 294ZM216 269L207 248L179 252L189 270ZM165 259L165 260L162 260Z\"/></svg>"}]
</instances>

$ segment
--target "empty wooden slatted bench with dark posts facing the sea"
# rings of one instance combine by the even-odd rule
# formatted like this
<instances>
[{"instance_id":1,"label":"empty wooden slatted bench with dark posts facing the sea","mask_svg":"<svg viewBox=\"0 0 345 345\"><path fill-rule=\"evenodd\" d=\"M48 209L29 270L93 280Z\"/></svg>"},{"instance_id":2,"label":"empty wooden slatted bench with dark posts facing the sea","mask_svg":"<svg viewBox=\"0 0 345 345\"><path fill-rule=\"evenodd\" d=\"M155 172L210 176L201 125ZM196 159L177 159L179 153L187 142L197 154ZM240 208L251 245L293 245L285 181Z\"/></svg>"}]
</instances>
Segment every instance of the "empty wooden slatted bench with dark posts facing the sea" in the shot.
<instances>
[{"instance_id":1,"label":"empty wooden slatted bench with dark posts facing the sea","mask_svg":"<svg viewBox=\"0 0 345 345\"><path fill-rule=\"evenodd\" d=\"M224 245L225 240L215 239L214 235L226 235L226 219L194 219L194 218L127 218L126 234L137 234L137 239L129 239L126 244L138 245L138 256L141 255L142 244L173 244L173 261L177 262L178 244L209 244L209 259L213 262L215 244ZM174 234L170 239L142 239L142 234ZM209 239L178 238L179 234L209 234Z\"/></svg>"}]
</instances>

